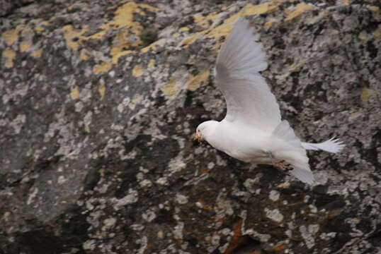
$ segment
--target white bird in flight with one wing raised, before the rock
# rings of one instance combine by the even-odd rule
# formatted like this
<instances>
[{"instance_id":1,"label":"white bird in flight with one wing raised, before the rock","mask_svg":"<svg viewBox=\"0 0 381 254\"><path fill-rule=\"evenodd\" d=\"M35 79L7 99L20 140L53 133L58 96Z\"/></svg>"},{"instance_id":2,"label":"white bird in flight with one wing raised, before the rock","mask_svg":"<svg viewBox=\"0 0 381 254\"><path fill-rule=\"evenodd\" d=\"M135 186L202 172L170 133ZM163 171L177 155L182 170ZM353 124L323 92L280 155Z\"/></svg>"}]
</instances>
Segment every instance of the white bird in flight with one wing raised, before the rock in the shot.
<instances>
[{"instance_id":1,"label":"white bird in flight with one wing raised, before the rock","mask_svg":"<svg viewBox=\"0 0 381 254\"><path fill-rule=\"evenodd\" d=\"M314 183L306 150L339 152L344 145L331 138L303 143L288 121L259 71L266 70L266 54L249 22L239 19L217 56L215 79L227 103L222 121L205 121L195 139L227 155L253 164L271 164L304 183Z\"/></svg>"}]
</instances>

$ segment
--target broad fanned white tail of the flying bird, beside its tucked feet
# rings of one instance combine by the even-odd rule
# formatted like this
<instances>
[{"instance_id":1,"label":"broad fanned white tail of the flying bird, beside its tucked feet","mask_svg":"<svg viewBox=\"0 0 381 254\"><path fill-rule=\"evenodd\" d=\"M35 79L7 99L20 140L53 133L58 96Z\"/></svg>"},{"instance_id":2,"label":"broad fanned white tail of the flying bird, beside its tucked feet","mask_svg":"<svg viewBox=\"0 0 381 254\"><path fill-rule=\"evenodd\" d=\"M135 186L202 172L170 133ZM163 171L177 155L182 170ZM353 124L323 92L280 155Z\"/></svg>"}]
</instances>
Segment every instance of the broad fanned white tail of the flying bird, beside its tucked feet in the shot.
<instances>
[{"instance_id":1,"label":"broad fanned white tail of the flying bird, beside its tucked feet","mask_svg":"<svg viewBox=\"0 0 381 254\"><path fill-rule=\"evenodd\" d=\"M292 165L291 174L303 183L314 183L314 174L309 169L308 157L300 139L290 127L288 121L282 121L273 131L273 136L284 140L287 144L279 152L274 153L275 158L280 158Z\"/></svg>"}]
</instances>

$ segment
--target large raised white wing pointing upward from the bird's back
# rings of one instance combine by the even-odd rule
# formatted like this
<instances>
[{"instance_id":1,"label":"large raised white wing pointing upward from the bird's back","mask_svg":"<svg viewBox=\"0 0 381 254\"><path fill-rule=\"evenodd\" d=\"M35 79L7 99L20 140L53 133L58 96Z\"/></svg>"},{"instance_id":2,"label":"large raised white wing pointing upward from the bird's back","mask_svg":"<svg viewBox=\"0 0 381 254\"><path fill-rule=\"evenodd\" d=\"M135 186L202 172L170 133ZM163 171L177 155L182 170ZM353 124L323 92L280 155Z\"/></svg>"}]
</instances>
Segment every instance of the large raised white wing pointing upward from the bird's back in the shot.
<instances>
[{"instance_id":1,"label":"large raised white wing pointing upward from the bird's back","mask_svg":"<svg viewBox=\"0 0 381 254\"><path fill-rule=\"evenodd\" d=\"M266 80L266 54L249 22L239 19L217 56L216 80L227 102L225 120L271 132L280 110Z\"/></svg>"}]
</instances>

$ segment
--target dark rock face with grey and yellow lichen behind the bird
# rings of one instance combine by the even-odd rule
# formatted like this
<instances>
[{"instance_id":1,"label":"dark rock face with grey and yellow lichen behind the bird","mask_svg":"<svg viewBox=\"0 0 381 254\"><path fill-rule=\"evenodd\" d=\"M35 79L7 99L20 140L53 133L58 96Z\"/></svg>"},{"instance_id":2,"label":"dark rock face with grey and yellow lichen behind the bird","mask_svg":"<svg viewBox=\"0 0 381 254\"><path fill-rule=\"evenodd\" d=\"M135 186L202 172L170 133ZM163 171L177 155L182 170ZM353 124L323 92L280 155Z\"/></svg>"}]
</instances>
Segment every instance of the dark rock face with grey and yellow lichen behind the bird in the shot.
<instances>
[{"instance_id":1,"label":"dark rock face with grey and yellow lichen behind the bird","mask_svg":"<svg viewBox=\"0 0 381 254\"><path fill-rule=\"evenodd\" d=\"M379 1L14 3L0 253L381 251ZM239 16L261 34L283 118L347 145L309 152L313 186L192 142L224 116L212 68Z\"/></svg>"}]
</instances>

